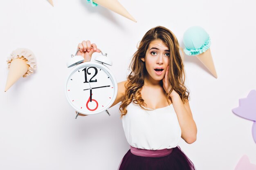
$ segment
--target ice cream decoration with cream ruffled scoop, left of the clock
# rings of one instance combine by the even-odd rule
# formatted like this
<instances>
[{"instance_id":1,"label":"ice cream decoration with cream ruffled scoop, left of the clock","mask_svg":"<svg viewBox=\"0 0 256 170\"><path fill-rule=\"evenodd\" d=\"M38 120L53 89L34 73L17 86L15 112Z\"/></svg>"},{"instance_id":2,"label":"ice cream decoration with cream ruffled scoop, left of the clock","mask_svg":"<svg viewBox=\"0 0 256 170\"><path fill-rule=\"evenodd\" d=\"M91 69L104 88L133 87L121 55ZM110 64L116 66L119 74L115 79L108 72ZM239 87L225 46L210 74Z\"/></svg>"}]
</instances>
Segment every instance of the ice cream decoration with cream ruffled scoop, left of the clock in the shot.
<instances>
[{"instance_id":1,"label":"ice cream decoration with cream ruffled scoop, left of the clock","mask_svg":"<svg viewBox=\"0 0 256 170\"><path fill-rule=\"evenodd\" d=\"M7 91L20 77L27 77L36 68L36 58L29 49L16 49L7 59L9 73L4 91Z\"/></svg>"}]
</instances>

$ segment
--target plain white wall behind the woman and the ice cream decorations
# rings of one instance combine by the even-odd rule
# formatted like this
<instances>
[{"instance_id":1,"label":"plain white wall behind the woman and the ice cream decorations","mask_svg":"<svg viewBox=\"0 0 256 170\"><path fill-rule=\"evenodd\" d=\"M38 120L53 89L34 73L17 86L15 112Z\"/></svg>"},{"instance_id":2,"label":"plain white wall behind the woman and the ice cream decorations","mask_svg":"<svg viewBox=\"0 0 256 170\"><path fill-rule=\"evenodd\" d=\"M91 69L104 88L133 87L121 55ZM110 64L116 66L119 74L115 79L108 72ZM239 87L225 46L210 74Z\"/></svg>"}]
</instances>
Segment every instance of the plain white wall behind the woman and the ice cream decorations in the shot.
<instances>
[{"instance_id":1,"label":"plain white wall behind the woman and the ice cream decorations","mask_svg":"<svg viewBox=\"0 0 256 170\"><path fill-rule=\"evenodd\" d=\"M113 61L117 81L126 79L130 57L148 29L162 25L182 43L184 31L202 26L211 36L215 79L185 56L186 85L198 139L180 147L198 170L234 170L244 154L256 164L252 121L231 112L256 87L254 0L119 0L132 22L85 0L9 0L0 4L0 169L115 170L129 149L118 106L74 119L64 84L66 62L82 40L91 40ZM38 70L6 93L5 60L16 48L31 49Z\"/></svg>"}]
</instances>

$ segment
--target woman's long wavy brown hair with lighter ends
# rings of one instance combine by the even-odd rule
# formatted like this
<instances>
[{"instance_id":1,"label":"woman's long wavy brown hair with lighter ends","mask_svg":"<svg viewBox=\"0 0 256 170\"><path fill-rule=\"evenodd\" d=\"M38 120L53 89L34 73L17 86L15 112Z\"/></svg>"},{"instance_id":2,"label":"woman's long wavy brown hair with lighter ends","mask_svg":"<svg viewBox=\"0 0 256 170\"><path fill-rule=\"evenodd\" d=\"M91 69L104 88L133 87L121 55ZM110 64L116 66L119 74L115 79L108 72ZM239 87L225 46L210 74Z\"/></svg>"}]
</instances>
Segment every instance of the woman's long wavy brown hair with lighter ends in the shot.
<instances>
[{"instance_id":1,"label":"woman's long wavy brown hair with lighter ends","mask_svg":"<svg viewBox=\"0 0 256 170\"><path fill-rule=\"evenodd\" d=\"M182 51L182 48L179 46L179 42L175 35L169 29L166 29L163 26L156 26L144 35L139 43L138 50L132 57L132 61L130 63L131 73L127 77L128 83L126 84L125 95L121 101L121 105L119 106L121 117L126 115L126 107L131 102L139 104L142 109L145 109L143 107L145 106L144 99L141 97L140 91L144 85L144 78L147 75L147 70L145 62L143 62L141 58L146 56L148 46L153 40L162 40L170 50L168 81L172 88L169 93L166 93L166 100L168 101L168 104L170 104L169 99L171 99L169 95L173 90L180 95L183 102L189 100L189 91L184 85L185 71L183 60L180 55L180 50ZM161 85L163 87L162 81Z\"/></svg>"}]
</instances>

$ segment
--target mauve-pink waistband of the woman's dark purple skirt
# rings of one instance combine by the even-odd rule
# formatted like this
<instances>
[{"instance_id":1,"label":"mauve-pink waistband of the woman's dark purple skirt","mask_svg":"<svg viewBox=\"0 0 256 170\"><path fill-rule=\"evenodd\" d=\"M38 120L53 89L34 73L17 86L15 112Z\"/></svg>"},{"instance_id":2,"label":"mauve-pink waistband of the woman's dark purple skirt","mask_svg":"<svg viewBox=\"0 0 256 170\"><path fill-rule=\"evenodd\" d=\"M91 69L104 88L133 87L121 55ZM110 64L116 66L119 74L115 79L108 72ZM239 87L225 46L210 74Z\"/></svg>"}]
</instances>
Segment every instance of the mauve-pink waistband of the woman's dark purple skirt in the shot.
<instances>
[{"instance_id":1,"label":"mauve-pink waistband of the woman's dark purple skirt","mask_svg":"<svg viewBox=\"0 0 256 170\"><path fill-rule=\"evenodd\" d=\"M173 151L173 148L161 149L161 150L139 149L139 148L134 148L132 146L130 146L130 148L133 155L137 155L141 157L165 157Z\"/></svg>"}]
</instances>

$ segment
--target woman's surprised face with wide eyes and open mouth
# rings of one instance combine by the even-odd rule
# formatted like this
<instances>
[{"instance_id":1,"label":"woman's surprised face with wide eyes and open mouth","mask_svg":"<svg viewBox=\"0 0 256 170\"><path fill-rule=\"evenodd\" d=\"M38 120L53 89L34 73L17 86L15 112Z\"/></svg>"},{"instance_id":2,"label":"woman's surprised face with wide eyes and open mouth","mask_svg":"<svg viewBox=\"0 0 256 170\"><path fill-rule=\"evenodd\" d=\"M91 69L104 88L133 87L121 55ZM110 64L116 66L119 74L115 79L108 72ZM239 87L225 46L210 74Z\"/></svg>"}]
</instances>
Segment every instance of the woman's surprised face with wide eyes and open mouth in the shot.
<instances>
[{"instance_id":1,"label":"woman's surprised face with wide eyes and open mouth","mask_svg":"<svg viewBox=\"0 0 256 170\"><path fill-rule=\"evenodd\" d=\"M141 58L146 64L148 78L162 80L166 68L169 65L170 50L162 40L153 40L150 42L146 51L145 58Z\"/></svg>"}]
</instances>

